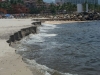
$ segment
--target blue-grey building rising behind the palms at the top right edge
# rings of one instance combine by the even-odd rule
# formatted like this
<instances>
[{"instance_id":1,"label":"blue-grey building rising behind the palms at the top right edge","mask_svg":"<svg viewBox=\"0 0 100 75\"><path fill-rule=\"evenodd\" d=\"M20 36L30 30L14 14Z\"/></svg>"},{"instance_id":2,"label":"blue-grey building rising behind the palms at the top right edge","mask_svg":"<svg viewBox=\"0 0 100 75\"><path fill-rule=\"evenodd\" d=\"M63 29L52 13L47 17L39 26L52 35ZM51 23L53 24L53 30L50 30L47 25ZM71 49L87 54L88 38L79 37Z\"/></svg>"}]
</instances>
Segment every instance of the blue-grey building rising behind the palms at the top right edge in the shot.
<instances>
[{"instance_id":1,"label":"blue-grey building rising behind the palms at the top right edge","mask_svg":"<svg viewBox=\"0 0 100 75\"><path fill-rule=\"evenodd\" d=\"M82 3L91 3L91 4L98 4L99 0L55 0L55 2L62 2L62 3L73 3L73 4L82 4Z\"/></svg>"}]
</instances>

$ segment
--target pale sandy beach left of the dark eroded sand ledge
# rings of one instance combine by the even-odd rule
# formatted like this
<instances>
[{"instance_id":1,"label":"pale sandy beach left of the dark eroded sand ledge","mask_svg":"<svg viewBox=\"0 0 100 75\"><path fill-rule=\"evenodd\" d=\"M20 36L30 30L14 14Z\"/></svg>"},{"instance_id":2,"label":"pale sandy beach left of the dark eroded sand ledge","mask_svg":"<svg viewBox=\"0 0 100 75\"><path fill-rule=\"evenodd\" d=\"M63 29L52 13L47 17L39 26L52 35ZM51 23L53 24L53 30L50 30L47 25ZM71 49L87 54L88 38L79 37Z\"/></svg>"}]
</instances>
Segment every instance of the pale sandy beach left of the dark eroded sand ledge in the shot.
<instances>
[{"instance_id":1,"label":"pale sandy beach left of the dark eroded sand ledge","mask_svg":"<svg viewBox=\"0 0 100 75\"><path fill-rule=\"evenodd\" d=\"M31 23L30 19L0 19L0 75L33 75L22 57L6 42L11 34Z\"/></svg>"}]
</instances>

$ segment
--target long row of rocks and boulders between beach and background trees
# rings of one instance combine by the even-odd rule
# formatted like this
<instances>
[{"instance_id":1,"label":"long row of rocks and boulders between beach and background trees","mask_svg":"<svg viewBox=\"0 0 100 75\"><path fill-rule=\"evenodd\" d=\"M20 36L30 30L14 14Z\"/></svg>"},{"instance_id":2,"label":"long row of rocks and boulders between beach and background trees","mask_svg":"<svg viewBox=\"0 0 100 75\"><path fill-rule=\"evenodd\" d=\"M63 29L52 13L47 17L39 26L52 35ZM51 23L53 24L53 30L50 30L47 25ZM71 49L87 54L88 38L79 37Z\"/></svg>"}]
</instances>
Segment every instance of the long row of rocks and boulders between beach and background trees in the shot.
<instances>
[{"instance_id":1,"label":"long row of rocks and boulders between beach and background trees","mask_svg":"<svg viewBox=\"0 0 100 75\"><path fill-rule=\"evenodd\" d=\"M74 14L59 14L47 18L33 18L34 21L87 21L87 20L100 20L100 13L97 12L82 12Z\"/></svg>"}]
</instances>

